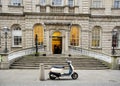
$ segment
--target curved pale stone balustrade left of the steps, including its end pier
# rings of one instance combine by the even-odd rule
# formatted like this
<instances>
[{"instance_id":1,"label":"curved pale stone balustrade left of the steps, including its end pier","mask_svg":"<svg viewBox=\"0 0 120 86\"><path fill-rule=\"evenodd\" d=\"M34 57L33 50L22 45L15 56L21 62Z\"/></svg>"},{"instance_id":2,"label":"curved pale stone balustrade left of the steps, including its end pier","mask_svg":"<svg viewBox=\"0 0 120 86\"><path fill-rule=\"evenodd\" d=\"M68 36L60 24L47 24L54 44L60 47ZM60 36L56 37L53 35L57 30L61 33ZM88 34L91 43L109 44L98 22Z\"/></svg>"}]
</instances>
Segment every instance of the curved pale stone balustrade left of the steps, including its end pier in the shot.
<instances>
[{"instance_id":1,"label":"curved pale stone balustrade left of the steps, including its end pier","mask_svg":"<svg viewBox=\"0 0 120 86\"><path fill-rule=\"evenodd\" d=\"M45 52L44 46L38 47L38 52ZM19 59L22 56L34 54L36 51L35 47L26 48L22 50L13 51L10 53L1 53L0 54L0 69L9 69L10 64L12 64L15 60Z\"/></svg>"}]
</instances>

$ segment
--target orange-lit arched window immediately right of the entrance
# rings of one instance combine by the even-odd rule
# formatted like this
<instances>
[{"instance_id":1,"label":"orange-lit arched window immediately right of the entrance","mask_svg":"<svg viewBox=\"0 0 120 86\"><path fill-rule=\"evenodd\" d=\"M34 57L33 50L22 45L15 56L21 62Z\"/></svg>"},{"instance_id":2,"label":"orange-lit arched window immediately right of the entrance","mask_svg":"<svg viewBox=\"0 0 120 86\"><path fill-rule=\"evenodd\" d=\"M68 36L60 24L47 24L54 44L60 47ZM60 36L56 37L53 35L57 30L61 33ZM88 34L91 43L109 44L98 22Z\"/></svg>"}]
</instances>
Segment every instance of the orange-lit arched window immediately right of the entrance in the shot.
<instances>
[{"instance_id":1,"label":"orange-lit arched window immediately right of the entrance","mask_svg":"<svg viewBox=\"0 0 120 86\"><path fill-rule=\"evenodd\" d=\"M72 26L70 31L70 45L79 46L79 35L80 35L79 26Z\"/></svg>"}]
</instances>

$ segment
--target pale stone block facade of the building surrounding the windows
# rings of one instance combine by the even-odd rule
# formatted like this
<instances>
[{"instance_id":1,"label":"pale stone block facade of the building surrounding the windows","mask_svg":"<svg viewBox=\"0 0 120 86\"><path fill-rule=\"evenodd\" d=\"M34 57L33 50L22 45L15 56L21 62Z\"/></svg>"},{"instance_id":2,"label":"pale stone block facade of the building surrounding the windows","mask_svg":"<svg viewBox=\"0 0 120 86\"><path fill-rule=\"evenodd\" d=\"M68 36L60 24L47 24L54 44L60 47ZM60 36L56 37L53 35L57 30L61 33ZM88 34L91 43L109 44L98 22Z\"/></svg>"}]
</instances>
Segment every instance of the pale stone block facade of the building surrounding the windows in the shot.
<instances>
[{"instance_id":1,"label":"pale stone block facade of the building surrounding the windows","mask_svg":"<svg viewBox=\"0 0 120 86\"><path fill-rule=\"evenodd\" d=\"M78 3L79 2L79 3ZM80 45L79 47L92 49L98 52L111 54L112 43L112 29L120 26L120 9L113 8L113 0L105 0L102 8L91 7L90 0L75 0L75 6L70 7L65 5L61 8L64 9L62 13L51 12L51 0L47 0L46 11L40 12L39 0L23 0L21 6L11 6L8 0L2 0L0 5L0 31L1 31L1 49L4 50L5 39L2 31L3 27L7 26L11 30L11 26L19 24L22 28L22 47L28 48L34 46L33 26L35 24L42 24L44 26L44 45L47 45L47 51L50 49L50 30L59 31L61 28L65 30L64 36L68 34L69 45L69 31L70 27L66 27L64 23L80 26ZM73 12L72 12L73 11ZM45 23L54 23L52 26L47 26ZM57 26L57 24L60 26ZM63 23L63 24L62 24ZM91 31L94 26L102 28L101 48L94 49L91 47ZM12 47L11 32L8 34L8 49L13 51L21 48Z\"/></svg>"}]
</instances>

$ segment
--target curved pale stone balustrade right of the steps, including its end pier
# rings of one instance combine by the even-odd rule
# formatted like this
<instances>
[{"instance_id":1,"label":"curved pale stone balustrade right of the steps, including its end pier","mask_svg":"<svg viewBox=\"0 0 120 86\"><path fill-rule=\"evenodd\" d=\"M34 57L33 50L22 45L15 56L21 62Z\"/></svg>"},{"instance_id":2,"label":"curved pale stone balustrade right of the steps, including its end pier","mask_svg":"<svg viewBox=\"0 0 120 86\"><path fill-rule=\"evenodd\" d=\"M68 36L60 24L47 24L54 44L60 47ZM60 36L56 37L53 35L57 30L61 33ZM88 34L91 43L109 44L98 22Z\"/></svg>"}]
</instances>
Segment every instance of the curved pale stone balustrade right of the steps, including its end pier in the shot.
<instances>
[{"instance_id":1,"label":"curved pale stone balustrade right of the steps, including its end pier","mask_svg":"<svg viewBox=\"0 0 120 86\"><path fill-rule=\"evenodd\" d=\"M114 56L74 46L69 46L69 50L69 53L71 53L72 55L85 55L94 57L108 63L108 66L111 67L111 69L120 69L120 50L116 50L116 55Z\"/></svg>"}]
</instances>

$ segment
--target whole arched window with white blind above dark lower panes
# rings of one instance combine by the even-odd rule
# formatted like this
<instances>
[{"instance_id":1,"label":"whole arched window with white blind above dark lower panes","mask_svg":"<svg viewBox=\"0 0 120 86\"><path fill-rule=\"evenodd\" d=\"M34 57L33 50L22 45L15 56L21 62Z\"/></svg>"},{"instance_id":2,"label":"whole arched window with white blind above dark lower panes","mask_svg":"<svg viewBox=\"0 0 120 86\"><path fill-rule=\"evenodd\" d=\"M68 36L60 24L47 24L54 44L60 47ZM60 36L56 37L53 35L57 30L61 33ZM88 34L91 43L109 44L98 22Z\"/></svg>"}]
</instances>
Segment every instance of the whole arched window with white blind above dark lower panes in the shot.
<instances>
[{"instance_id":1,"label":"whole arched window with white blind above dark lower panes","mask_svg":"<svg viewBox=\"0 0 120 86\"><path fill-rule=\"evenodd\" d=\"M12 46L22 47L22 31L19 25L12 26Z\"/></svg>"}]
</instances>

